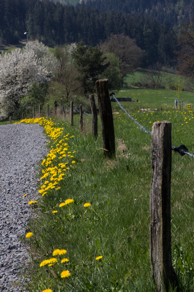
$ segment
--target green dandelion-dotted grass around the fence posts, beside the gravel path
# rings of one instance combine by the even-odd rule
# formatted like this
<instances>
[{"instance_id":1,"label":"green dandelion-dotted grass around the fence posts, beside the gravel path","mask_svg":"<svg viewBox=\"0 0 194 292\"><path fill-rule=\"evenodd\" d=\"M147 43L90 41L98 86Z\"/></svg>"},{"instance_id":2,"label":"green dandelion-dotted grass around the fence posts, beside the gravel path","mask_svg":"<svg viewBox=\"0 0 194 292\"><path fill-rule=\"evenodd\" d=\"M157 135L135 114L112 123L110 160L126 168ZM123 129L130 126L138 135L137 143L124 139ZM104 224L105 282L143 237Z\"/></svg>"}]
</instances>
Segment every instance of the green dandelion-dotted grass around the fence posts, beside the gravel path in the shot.
<instances>
[{"instance_id":1,"label":"green dandelion-dotted grass around the fence posts, beside the gravel path","mask_svg":"<svg viewBox=\"0 0 194 292\"><path fill-rule=\"evenodd\" d=\"M51 135L48 147L56 152L51 164L57 171L51 173L46 161L40 165L39 179L49 172L40 180L40 189L47 186L45 180L53 183L54 173L56 178L67 174L58 181L58 190L49 188L47 194L40 194L38 216L29 222L33 236L25 239L32 259L28 291L155 291L149 263L151 137L121 111L114 116L115 160L103 158L100 120L97 141L91 135L91 117L85 117L83 135L78 116L73 127L68 120L53 119L49 130L45 128ZM172 121L172 144L185 144L193 151L193 112L134 113L134 118L149 130L154 121ZM64 143L67 150L61 148ZM74 156L76 168L71 168L68 155ZM172 155L172 259L180 291L194 288L193 195L193 161ZM60 207L67 199L74 202ZM85 203L91 206L86 208ZM53 254L56 249L60 252ZM102 258L96 260L98 256ZM43 262L51 258L57 260L54 265ZM68 261L61 263L63 258ZM40 266L42 262L45 265ZM70 275L61 277L63 271Z\"/></svg>"}]
</instances>

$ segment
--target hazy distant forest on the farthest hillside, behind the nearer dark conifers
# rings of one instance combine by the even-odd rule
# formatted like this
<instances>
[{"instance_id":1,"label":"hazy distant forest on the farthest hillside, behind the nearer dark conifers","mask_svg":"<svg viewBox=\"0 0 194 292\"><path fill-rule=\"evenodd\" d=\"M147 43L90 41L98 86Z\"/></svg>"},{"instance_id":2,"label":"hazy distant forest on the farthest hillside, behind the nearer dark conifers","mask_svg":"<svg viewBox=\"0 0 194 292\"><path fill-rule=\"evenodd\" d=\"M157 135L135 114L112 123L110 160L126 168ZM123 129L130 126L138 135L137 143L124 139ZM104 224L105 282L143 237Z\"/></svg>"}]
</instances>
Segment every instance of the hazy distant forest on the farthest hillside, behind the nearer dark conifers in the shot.
<instances>
[{"instance_id":1,"label":"hazy distant forest on the farthest hillside, behind the nearer dark conifers","mask_svg":"<svg viewBox=\"0 0 194 292\"><path fill-rule=\"evenodd\" d=\"M183 20L190 22L194 14L194 0L88 0L85 6L106 13L152 16L169 27Z\"/></svg>"}]
</instances>

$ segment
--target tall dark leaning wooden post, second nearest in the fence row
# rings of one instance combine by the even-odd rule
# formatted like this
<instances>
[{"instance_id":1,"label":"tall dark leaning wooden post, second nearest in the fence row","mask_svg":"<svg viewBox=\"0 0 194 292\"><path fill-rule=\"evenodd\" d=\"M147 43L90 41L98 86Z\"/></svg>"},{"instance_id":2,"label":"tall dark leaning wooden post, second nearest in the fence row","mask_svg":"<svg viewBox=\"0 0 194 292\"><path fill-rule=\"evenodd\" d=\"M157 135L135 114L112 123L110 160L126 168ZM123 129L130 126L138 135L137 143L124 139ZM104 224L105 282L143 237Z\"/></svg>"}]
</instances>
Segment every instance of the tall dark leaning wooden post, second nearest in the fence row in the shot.
<instances>
[{"instance_id":1,"label":"tall dark leaning wooden post, second nearest in the fence row","mask_svg":"<svg viewBox=\"0 0 194 292\"><path fill-rule=\"evenodd\" d=\"M108 79L96 81L96 92L102 122L103 148L108 150L103 150L104 157L113 158L115 157L115 131L111 100L108 93Z\"/></svg>"}]
</instances>

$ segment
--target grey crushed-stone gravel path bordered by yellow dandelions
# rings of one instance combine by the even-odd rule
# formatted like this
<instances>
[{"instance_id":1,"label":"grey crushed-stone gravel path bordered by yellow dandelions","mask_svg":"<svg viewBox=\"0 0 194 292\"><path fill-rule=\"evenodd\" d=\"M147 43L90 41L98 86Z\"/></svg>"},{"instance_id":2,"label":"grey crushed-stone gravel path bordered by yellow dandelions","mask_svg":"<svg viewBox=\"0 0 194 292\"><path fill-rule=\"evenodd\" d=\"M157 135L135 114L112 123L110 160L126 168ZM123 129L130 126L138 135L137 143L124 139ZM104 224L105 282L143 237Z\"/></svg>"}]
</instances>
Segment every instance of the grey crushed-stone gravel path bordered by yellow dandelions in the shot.
<instances>
[{"instance_id":1,"label":"grey crushed-stone gravel path bordered by yellow dandelions","mask_svg":"<svg viewBox=\"0 0 194 292\"><path fill-rule=\"evenodd\" d=\"M19 234L34 213L28 202L37 199L37 162L47 154L46 137L38 124L0 126L0 291L26 291L17 267L29 263ZM27 194L26 197L23 197ZM14 287L15 286L15 287Z\"/></svg>"}]
</instances>

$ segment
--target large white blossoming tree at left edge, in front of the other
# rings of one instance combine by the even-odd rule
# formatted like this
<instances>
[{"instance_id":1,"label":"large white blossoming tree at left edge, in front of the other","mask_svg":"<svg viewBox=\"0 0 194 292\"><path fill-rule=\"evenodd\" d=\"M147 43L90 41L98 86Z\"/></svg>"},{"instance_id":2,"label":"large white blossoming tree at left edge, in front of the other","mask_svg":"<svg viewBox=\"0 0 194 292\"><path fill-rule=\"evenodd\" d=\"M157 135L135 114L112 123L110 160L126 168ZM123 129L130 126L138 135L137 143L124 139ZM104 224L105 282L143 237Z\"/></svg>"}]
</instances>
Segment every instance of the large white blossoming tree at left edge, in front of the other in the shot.
<instances>
[{"instance_id":1,"label":"large white blossoming tree at left edge, in front of the other","mask_svg":"<svg viewBox=\"0 0 194 292\"><path fill-rule=\"evenodd\" d=\"M20 108L21 99L34 83L46 83L49 72L34 50L13 50L0 55L0 111L8 117Z\"/></svg>"}]
</instances>

